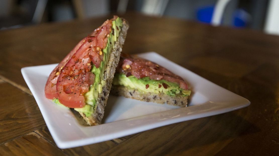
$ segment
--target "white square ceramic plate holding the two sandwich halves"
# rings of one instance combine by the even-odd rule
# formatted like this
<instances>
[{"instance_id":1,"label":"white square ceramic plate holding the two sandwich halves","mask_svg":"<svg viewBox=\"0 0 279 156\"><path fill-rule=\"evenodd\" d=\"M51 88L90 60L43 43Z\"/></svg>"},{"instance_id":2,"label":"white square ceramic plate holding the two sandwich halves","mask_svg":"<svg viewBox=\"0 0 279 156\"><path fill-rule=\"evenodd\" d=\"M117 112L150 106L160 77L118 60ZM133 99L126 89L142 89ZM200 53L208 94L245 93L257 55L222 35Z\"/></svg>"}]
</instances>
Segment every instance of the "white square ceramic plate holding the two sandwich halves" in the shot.
<instances>
[{"instance_id":1,"label":"white square ceramic plate holding the two sandwich halves","mask_svg":"<svg viewBox=\"0 0 279 156\"><path fill-rule=\"evenodd\" d=\"M49 73L57 64L21 69L50 134L59 148L103 142L164 125L237 110L250 104L244 97L213 84L155 52L138 54L138 56L168 69L175 69L172 71L185 79L192 90L189 107L180 108L110 95L103 124L85 126L80 124L70 109L45 98L45 83Z\"/></svg>"}]
</instances>

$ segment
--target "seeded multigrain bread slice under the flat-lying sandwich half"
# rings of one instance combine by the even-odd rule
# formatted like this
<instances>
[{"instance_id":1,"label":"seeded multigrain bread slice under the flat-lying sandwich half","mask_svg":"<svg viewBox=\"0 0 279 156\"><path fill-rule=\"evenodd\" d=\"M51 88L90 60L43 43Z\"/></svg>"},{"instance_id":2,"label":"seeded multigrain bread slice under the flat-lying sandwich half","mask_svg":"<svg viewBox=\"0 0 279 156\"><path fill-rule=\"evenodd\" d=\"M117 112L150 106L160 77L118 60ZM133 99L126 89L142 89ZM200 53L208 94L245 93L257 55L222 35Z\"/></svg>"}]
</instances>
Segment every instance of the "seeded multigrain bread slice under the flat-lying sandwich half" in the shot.
<instances>
[{"instance_id":1,"label":"seeded multigrain bread slice under the flat-lying sandwich half","mask_svg":"<svg viewBox=\"0 0 279 156\"><path fill-rule=\"evenodd\" d=\"M157 94L152 92L145 93L139 91L138 89L125 87L123 85L113 85L111 89L111 94L146 102L155 102L159 104L167 103L169 105L175 105L179 107L187 107L188 99L188 96L169 96L164 93Z\"/></svg>"}]
</instances>

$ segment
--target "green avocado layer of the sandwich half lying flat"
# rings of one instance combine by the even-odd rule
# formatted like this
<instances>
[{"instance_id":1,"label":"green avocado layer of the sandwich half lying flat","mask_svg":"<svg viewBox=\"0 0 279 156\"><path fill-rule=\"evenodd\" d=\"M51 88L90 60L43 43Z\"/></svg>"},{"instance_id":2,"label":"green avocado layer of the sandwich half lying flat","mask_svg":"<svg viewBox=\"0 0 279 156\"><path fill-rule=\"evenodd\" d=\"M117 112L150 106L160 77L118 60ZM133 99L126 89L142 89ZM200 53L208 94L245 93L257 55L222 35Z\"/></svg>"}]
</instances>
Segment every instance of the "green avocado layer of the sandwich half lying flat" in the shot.
<instances>
[{"instance_id":1,"label":"green avocado layer of the sandwich half lying flat","mask_svg":"<svg viewBox=\"0 0 279 156\"><path fill-rule=\"evenodd\" d=\"M141 92L164 93L170 96L188 96L191 94L190 90L184 90L176 83L166 80L152 80L149 77L138 79L134 76L126 77L124 74L116 74L112 84L124 85L125 87L138 89Z\"/></svg>"}]
</instances>

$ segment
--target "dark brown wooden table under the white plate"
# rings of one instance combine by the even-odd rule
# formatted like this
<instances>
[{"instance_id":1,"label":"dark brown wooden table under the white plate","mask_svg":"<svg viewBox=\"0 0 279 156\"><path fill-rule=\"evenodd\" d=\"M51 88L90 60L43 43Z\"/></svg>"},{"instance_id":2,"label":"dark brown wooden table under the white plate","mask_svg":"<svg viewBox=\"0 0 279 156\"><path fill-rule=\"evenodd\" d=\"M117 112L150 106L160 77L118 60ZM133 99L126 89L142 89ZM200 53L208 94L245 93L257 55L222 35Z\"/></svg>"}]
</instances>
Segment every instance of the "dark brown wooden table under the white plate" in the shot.
<instances>
[{"instance_id":1,"label":"dark brown wooden table under the white plate","mask_svg":"<svg viewBox=\"0 0 279 156\"><path fill-rule=\"evenodd\" d=\"M20 69L57 63L112 16L0 32L0 155L278 155L279 36L123 15L124 52L155 51L251 101L249 107L98 144L59 149Z\"/></svg>"}]
</instances>

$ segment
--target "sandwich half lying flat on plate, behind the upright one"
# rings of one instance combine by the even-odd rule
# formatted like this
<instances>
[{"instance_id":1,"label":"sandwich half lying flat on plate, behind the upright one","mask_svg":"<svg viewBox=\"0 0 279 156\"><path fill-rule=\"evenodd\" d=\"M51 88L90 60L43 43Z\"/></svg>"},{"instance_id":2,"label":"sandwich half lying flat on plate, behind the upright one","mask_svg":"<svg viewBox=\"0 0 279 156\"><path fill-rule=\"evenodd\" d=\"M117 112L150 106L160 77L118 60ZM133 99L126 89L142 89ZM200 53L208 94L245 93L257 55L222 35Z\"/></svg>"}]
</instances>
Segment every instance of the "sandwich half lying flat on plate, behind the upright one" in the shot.
<instances>
[{"instance_id":1,"label":"sandwich half lying flat on plate, behind the upright one","mask_svg":"<svg viewBox=\"0 0 279 156\"><path fill-rule=\"evenodd\" d=\"M158 64L121 54L111 93L147 102L187 106L191 91L180 77Z\"/></svg>"}]
</instances>

